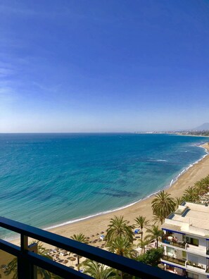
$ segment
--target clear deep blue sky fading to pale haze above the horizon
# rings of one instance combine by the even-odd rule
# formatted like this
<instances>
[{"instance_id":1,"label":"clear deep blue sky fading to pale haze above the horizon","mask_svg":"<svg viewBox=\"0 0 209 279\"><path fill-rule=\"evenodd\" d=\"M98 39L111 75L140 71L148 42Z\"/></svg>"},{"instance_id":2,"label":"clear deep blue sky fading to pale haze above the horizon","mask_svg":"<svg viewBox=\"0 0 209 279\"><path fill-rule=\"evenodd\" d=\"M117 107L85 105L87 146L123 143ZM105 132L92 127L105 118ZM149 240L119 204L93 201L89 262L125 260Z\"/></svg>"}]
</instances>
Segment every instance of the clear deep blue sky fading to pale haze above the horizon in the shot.
<instances>
[{"instance_id":1,"label":"clear deep blue sky fading to pale haze above the horizon","mask_svg":"<svg viewBox=\"0 0 209 279\"><path fill-rule=\"evenodd\" d=\"M1 0L0 132L205 122L208 0Z\"/></svg>"}]
</instances>

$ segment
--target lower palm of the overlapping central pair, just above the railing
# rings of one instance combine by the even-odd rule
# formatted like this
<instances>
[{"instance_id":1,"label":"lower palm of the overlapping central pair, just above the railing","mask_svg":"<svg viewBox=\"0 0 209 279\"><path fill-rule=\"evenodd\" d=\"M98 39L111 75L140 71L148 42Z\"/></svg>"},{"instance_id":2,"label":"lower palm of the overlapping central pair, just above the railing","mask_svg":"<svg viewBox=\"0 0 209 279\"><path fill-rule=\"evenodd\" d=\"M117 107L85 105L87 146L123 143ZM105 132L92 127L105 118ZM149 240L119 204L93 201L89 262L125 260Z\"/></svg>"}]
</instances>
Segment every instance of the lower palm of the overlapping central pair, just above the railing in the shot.
<instances>
[{"instance_id":1,"label":"lower palm of the overlapping central pair, just above the railing","mask_svg":"<svg viewBox=\"0 0 209 279\"><path fill-rule=\"evenodd\" d=\"M133 252L133 244L126 237L115 237L115 240L108 242L108 250L120 256L130 257Z\"/></svg>"}]
</instances>

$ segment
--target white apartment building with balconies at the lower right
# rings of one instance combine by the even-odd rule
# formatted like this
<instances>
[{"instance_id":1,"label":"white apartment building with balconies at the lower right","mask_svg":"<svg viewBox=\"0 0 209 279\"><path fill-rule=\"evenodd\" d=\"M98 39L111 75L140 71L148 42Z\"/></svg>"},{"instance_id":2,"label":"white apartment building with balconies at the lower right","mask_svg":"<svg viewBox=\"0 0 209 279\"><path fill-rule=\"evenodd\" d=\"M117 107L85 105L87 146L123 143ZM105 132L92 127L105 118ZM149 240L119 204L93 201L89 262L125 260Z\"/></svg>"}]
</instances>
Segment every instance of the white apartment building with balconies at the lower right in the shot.
<instances>
[{"instance_id":1,"label":"white apartment building with balconies at the lower right","mask_svg":"<svg viewBox=\"0 0 209 279\"><path fill-rule=\"evenodd\" d=\"M209 206L184 202L161 226L167 271L209 278Z\"/></svg>"}]
</instances>

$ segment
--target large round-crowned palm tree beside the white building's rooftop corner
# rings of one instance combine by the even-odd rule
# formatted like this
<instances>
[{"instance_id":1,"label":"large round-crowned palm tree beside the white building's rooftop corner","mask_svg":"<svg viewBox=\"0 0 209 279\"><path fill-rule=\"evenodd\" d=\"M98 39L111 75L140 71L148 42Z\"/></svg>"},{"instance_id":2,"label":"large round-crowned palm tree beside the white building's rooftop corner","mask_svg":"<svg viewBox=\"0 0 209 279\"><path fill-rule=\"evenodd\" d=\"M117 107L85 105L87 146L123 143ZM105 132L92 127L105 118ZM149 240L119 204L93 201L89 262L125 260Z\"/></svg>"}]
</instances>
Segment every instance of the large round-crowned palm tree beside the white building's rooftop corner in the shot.
<instances>
[{"instance_id":1,"label":"large round-crowned palm tree beside the white building's rooftop corner","mask_svg":"<svg viewBox=\"0 0 209 279\"><path fill-rule=\"evenodd\" d=\"M165 218L175 211L175 200L167 192L160 191L152 201L153 215L157 216L163 224Z\"/></svg>"}]
</instances>

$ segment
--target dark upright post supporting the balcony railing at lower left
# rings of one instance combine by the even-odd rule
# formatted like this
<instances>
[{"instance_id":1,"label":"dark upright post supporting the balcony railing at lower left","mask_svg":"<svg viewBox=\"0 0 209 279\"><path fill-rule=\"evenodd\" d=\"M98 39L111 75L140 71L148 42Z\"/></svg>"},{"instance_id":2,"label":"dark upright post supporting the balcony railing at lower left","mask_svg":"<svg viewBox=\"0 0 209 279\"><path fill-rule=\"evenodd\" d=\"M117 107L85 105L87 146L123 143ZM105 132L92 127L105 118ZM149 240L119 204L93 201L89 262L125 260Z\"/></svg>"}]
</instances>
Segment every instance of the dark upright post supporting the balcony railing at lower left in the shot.
<instances>
[{"instance_id":1,"label":"dark upright post supporting the balcony railing at lower left","mask_svg":"<svg viewBox=\"0 0 209 279\"><path fill-rule=\"evenodd\" d=\"M28 237L20 235L20 256L18 257L18 279L37 279L37 267L27 259L28 251L37 253L37 244L28 247Z\"/></svg>"}]
</instances>

